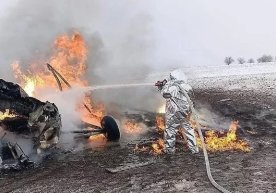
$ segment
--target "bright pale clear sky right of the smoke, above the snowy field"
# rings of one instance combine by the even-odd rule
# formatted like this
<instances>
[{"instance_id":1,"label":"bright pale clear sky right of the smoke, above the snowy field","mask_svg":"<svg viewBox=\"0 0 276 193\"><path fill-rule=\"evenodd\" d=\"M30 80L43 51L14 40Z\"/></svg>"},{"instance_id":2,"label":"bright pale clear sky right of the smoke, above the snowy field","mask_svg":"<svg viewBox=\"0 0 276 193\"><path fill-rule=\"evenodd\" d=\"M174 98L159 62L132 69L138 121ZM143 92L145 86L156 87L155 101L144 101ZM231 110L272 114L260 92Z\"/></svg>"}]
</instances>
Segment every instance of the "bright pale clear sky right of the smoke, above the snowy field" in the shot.
<instances>
[{"instance_id":1,"label":"bright pale clear sky right of the smoke, above the snowy field","mask_svg":"<svg viewBox=\"0 0 276 193\"><path fill-rule=\"evenodd\" d=\"M174 3L173 3L174 2ZM156 4L159 49L191 65L220 65L225 56L276 55L276 1L180 0Z\"/></svg>"}]
</instances>

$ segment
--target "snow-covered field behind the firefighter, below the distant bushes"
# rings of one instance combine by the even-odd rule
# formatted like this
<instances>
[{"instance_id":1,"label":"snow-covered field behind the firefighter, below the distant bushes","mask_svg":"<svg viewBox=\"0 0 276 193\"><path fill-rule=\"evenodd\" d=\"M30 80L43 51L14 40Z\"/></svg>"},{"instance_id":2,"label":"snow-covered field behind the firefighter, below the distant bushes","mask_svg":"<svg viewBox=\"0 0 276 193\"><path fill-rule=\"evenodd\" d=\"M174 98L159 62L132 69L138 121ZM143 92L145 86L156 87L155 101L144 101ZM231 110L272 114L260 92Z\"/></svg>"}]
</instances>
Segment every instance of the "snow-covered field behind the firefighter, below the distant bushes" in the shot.
<instances>
[{"instance_id":1,"label":"snow-covered field behind the firefighter, below the distant bushes","mask_svg":"<svg viewBox=\"0 0 276 193\"><path fill-rule=\"evenodd\" d=\"M276 62L191 66L182 70L194 88L254 90L276 96ZM169 71L153 73L146 81L163 80L169 73Z\"/></svg>"}]
</instances>

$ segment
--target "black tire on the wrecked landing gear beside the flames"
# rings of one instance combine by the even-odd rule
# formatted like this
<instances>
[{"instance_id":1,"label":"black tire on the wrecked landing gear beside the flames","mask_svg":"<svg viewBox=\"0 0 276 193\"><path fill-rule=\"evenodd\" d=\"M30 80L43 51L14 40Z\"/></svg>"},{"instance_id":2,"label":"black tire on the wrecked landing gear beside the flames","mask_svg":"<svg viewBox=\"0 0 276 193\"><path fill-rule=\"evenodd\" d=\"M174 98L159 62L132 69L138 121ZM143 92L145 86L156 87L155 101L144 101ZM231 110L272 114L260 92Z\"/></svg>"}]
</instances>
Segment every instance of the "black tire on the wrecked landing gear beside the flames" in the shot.
<instances>
[{"instance_id":1,"label":"black tire on the wrecked landing gear beside the flames","mask_svg":"<svg viewBox=\"0 0 276 193\"><path fill-rule=\"evenodd\" d=\"M110 116L104 116L101 120L101 126L106 131L108 141L118 141L120 139L120 130L116 121Z\"/></svg>"}]
</instances>

